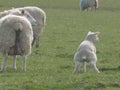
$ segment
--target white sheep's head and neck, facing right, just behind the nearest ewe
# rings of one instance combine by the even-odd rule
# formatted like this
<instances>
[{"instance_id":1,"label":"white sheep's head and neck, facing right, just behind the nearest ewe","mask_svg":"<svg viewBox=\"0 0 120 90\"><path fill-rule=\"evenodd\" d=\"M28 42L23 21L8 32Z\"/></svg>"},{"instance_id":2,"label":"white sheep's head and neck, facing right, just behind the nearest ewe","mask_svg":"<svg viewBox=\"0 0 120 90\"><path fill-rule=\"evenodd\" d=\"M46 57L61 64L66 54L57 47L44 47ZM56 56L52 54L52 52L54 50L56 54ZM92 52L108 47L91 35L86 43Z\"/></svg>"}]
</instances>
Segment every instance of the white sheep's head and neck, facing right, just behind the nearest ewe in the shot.
<instances>
[{"instance_id":1,"label":"white sheep's head and neck, facing right, just behind the nearest ewe","mask_svg":"<svg viewBox=\"0 0 120 90\"><path fill-rule=\"evenodd\" d=\"M13 15L23 16L28 19L28 21L31 23L31 25L35 26L37 25L36 20L29 14L29 12L21 9L12 9L11 13Z\"/></svg>"}]
</instances>

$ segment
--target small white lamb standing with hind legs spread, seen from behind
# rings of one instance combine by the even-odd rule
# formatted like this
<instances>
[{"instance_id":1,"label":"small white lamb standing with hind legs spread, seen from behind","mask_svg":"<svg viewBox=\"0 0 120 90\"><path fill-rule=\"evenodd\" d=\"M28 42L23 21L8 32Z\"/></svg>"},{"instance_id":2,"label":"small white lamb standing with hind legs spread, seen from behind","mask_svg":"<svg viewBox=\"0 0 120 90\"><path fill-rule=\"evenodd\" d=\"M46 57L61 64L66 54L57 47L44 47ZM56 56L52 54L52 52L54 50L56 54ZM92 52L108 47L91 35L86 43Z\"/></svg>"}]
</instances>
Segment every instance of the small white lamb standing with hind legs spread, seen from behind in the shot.
<instances>
[{"instance_id":1,"label":"small white lamb standing with hind legs spread, seen from behind","mask_svg":"<svg viewBox=\"0 0 120 90\"><path fill-rule=\"evenodd\" d=\"M94 43L99 41L99 32L89 31L85 40L79 45L76 53L74 54L75 68L73 73L77 74L80 63L83 63L83 71L86 72L86 62L90 62L91 67L95 72L99 73L96 67L97 56L96 47Z\"/></svg>"}]
</instances>

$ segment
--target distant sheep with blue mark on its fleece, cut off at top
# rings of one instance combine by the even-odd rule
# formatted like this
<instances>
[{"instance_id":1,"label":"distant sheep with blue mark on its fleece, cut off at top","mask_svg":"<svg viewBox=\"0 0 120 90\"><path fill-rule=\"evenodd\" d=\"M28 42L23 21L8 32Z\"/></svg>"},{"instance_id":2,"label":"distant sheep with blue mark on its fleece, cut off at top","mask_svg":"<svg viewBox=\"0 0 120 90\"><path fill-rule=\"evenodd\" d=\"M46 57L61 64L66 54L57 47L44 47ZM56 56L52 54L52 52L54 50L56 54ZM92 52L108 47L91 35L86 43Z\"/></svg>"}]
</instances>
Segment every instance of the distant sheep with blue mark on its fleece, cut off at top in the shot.
<instances>
[{"instance_id":1,"label":"distant sheep with blue mark on its fleece, cut off at top","mask_svg":"<svg viewBox=\"0 0 120 90\"><path fill-rule=\"evenodd\" d=\"M98 8L98 0L80 0L81 10L95 9Z\"/></svg>"}]
</instances>

